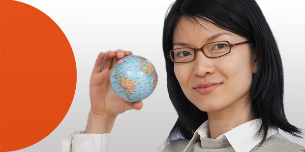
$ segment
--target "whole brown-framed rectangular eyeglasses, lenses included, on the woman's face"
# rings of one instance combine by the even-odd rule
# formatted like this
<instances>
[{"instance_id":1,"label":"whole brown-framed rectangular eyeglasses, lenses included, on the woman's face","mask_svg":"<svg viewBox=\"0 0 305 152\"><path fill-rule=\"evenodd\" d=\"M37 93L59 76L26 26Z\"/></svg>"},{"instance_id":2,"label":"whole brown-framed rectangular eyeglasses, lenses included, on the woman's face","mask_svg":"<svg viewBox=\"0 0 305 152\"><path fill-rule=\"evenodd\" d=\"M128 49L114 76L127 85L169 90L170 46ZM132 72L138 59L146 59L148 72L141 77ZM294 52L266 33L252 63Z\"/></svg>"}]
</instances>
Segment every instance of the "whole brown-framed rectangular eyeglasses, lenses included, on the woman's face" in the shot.
<instances>
[{"instance_id":1,"label":"whole brown-framed rectangular eyeglasses, lenses included, on the woman's face","mask_svg":"<svg viewBox=\"0 0 305 152\"><path fill-rule=\"evenodd\" d=\"M230 44L228 41L218 41L205 44L201 48L177 48L170 50L167 58L171 59L174 63L187 63L195 59L196 52L199 50L208 58L217 58L229 54L232 47L249 42L250 41Z\"/></svg>"}]
</instances>

